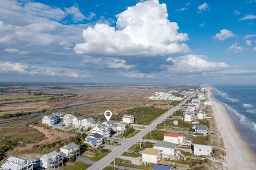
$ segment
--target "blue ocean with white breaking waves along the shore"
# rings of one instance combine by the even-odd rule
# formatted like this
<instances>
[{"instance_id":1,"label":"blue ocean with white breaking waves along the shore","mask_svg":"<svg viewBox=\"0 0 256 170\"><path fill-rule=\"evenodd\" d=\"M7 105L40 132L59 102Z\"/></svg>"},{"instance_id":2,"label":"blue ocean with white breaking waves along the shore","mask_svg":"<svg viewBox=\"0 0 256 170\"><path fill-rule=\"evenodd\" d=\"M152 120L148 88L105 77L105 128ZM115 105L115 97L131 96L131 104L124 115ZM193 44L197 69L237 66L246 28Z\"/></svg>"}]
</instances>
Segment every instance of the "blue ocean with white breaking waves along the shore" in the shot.
<instances>
[{"instance_id":1,"label":"blue ocean with white breaking waves along the shore","mask_svg":"<svg viewBox=\"0 0 256 170\"><path fill-rule=\"evenodd\" d=\"M256 85L213 86L212 96L226 106L238 131L256 154Z\"/></svg>"}]
</instances>

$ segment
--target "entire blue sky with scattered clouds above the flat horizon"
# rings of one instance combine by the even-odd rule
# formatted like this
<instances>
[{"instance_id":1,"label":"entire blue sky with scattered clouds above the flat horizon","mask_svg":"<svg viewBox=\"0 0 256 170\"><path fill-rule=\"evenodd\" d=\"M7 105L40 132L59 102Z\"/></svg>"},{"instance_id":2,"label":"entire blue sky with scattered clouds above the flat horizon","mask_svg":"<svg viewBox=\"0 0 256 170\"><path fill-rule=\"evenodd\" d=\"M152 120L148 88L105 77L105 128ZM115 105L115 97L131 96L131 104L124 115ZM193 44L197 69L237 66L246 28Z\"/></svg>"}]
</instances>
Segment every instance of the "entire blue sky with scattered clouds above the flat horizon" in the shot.
<instances>
[{"instance_id":1,"label":"entire blue sky with scattered clouds above the flat horizon","mask_svg":"<svg viewBox=\"0 0 256 170\"><path fill-rule=\"evenodd\" d=\"M0 81L256 84L256 1L0 3Z\"/></svg>"}]
</instances>

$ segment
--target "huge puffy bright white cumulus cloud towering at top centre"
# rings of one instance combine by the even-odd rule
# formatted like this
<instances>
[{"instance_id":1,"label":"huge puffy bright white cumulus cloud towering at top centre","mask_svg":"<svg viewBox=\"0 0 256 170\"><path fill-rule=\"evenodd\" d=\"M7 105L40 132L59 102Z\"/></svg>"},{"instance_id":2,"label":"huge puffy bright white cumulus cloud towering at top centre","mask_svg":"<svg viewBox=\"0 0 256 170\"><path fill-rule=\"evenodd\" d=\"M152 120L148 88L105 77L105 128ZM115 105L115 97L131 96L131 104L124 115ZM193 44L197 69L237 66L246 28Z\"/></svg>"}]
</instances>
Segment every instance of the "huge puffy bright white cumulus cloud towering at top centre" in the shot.
<instances>
[{"instance_id":1,"label":"huge puffy bright white cumulus cloud towering at top centre","mask_svg":"<svg viewBox=\"0 0 256 170\"><path fill-rule=\"evenodd\" d=\"M155 56L189 52L180 43L188 40L179 26L170 22L165 4L144 1L117 16L116 28L95 24L83 31L85 43L76 44L77 54L99 56Z\"/></svg>"}]
</instances>

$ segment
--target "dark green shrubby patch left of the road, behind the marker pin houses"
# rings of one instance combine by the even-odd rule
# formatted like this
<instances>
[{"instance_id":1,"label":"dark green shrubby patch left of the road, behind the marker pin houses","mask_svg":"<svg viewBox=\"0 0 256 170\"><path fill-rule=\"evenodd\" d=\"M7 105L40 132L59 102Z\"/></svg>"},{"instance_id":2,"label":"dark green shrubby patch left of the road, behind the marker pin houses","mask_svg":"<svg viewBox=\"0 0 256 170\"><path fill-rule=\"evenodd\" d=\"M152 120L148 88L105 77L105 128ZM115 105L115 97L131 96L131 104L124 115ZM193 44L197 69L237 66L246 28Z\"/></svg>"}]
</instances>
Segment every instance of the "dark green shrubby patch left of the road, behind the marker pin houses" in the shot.
<instances>
[{"instance_id":1,"label":"dark green shrubby patch left of the road, behind the marker pin houses","mask_svg":"<svg viewBox=\"0 0 256 170\"><path fill-rule=\"evenodd\" d=\"M135 107L127 111L127 114L134 115L135 124L149 124L167 110L153 106Z\"/></svg>"}]
</instances>

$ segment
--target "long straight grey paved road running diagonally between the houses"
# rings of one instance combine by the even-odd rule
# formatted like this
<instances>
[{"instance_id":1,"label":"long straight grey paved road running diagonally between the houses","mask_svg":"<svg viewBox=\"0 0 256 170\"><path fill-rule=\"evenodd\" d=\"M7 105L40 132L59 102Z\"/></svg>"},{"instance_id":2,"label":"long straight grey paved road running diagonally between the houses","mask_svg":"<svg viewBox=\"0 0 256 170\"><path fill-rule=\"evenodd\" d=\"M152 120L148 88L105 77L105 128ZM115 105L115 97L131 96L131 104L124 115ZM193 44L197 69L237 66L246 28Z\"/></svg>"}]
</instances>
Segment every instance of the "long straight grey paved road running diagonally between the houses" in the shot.
<instances>
[{"instance_id":1,"label":"long straight grey paved road running diagonally between the houses","mask_svg":"<svg viewBox=\"0 0 256 170\"><path fill-rule=\"evenodd\" d=\"M88 170L100 170L108 166L116 157L119 157L123 154L124 151L129 149L134 143L139 141L143 136L145 136L148 132L153 130L159 123L163 122L165 118L172 115L175 111L178 111L180 107L187 102L190 98L194 97L197 94L198 91L196 91L194 94L187 97L185 100L183 100L179 105L171 108L169 111L164 113L162 116L157 118L156 121L148 125L147 128L142 129L137 135L135 135L132 138L124 139L121 146L117 146L115 149L113 149L110 154L100 159L98 162L94 163L91 167L88 168Z\"/></svg>"}]
</instances>

